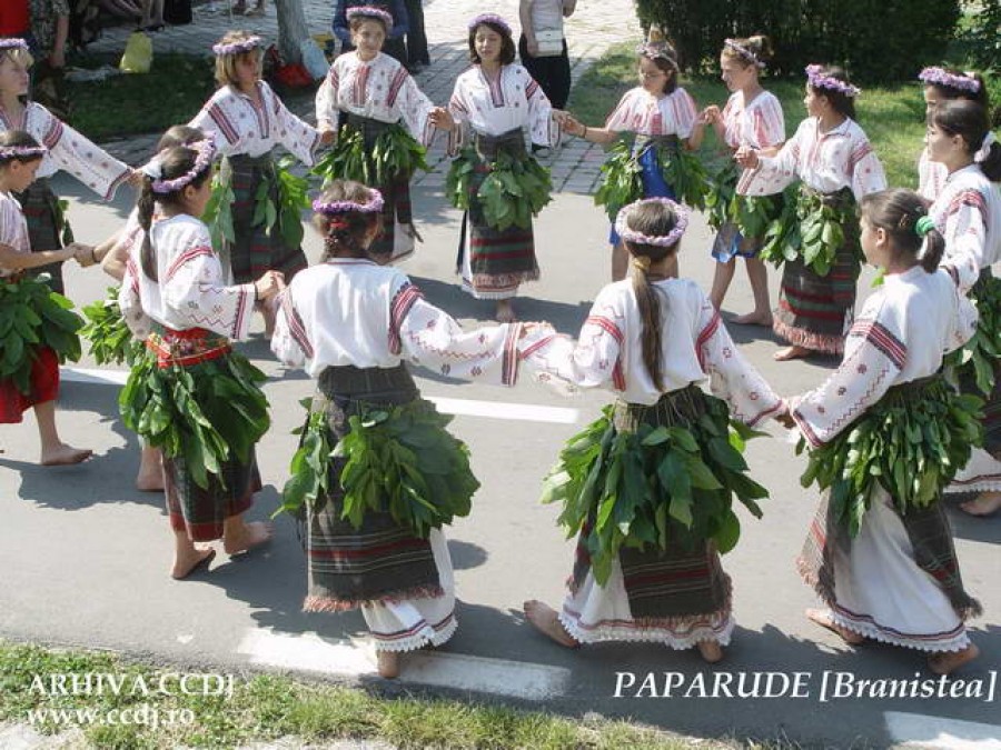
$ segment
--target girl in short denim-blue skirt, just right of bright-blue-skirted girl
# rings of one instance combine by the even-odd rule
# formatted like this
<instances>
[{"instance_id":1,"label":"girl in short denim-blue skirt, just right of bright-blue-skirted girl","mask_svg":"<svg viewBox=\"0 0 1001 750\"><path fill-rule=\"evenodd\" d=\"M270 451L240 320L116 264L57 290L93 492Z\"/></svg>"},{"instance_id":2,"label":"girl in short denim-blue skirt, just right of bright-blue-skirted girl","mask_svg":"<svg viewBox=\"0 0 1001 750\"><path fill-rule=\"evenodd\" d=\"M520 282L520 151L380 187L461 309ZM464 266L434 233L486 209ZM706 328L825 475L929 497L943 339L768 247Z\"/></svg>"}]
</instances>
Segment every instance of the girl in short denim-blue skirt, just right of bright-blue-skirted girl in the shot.
<instances>
[{"instance_id":1,"label":"girl in short denim-blue skirt, just right of bright-blue-skirted girl","mask_svg":"<svg viewBox=\"0 0 1001 750\"><path fill-rule=\"evenodd\" d=\"M715 104L702 111L702 119L713 126L716 137L725 143L731 153L740 147L749 147L762 151L765 156L774 156L785 140L785 119L782 104L771 91L765 91L759 76L772 58L772 44L767 37L750 37L747 39L727 39L720 52L720 68L723 82L730 89L730 99L721 111ZM732 162L731 162L732 163ZM727 188L736 184L736 174L727 168ZM732 174L732 177L731 177ZM741 200L734 197L733 200ZM730 207L731 201L727 201ZM729 212L729 211L727 211ZM710 299L717 310L722 309L723 298L733 280L736 268L736 256L741 256L747 268L751 291L754 294L754 310L733 319L735 323L772 324L772 306L769 302L769 274L764 261L757 258L761 249L761 237L744 237L734 221L723 223L713 242L713 258L718 262L713 276L713 289Z\"/></svg>"}]
</instances>

